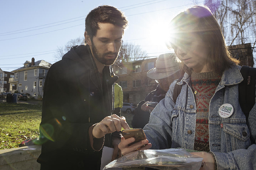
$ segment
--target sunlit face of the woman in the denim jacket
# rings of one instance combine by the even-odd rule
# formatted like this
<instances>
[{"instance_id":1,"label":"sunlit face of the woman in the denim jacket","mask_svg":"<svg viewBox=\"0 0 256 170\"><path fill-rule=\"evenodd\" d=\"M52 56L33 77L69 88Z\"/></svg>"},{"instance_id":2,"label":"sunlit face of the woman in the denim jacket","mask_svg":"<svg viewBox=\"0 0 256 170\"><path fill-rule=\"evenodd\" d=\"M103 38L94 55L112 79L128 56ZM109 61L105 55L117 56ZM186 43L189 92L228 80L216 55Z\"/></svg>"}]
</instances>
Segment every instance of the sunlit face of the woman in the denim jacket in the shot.
<instances>
[{"instance_id":1,"label":"sunlit face of the woman in the denim jacket","mask_svg":"<svg viewBox=\"0 0 256 170\"><path fill-rule=\"evenodd\" d=\"M210 47L200 36L195 33L186 33L179 37L179 41L173 46L174 52L187 67L194 72L211 71L207 62L207 55ZM208 59L209 61L209 59Z\"/></svg>"}]
</instances>

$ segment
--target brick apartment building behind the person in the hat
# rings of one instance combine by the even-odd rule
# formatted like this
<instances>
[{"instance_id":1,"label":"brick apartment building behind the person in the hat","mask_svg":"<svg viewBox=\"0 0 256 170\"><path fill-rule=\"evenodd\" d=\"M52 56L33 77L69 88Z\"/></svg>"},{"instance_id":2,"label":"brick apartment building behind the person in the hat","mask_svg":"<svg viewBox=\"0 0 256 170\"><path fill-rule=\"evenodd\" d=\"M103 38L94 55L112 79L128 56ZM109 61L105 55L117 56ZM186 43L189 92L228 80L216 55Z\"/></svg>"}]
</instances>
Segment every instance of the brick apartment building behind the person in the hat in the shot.
<instances>
[{"instance_id":1,"label":"brick apartment building behind the person in the hat","mask_svg":"<svg viewBox=\"0 0 256 170\"><path fill-rule=\"evenodd\" d=\"M156 59L145 59L133 62L113 64L118 75L118 83L123 90L123 102L138 104L149 92L156 89L155 80L147 77L148 70L156 66Z\"/></svg>"}]
</instances>

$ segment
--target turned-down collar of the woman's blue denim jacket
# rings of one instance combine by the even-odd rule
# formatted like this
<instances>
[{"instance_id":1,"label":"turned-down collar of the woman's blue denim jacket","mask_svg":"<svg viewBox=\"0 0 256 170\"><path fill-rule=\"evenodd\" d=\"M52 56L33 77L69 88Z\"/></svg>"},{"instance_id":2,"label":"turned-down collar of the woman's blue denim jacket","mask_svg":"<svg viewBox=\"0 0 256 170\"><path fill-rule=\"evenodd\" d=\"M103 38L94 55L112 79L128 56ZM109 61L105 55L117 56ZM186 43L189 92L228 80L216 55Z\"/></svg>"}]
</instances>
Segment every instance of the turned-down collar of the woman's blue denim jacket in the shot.
<instances>
[{"instance_id":1,"label":"turned-down collar of the woman's blue denim jacket","mask_svg":"<svg viewBox=\"0 0 256 170\"><path fill-rule=\"evenodd\" d=\"M234 85L241 83L243 81L243 77L239 71L240 69L241 66L239 65L231 65L230 68L224 70L219 85ZM177 84L182 85L183 82L190 82L190 76L186 72L182 80L180 80L180 82L177 82Z\"/></svg>"}]
</instances>

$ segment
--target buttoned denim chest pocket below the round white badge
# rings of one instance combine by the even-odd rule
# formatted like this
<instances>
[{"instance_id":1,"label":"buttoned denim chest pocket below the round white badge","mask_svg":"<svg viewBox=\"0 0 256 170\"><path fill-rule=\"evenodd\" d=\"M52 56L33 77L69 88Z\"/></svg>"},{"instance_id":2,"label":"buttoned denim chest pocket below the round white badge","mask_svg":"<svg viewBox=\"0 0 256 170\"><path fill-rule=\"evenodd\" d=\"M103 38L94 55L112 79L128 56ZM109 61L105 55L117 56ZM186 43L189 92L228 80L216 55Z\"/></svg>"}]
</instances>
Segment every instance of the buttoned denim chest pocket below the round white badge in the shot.
<instances>
[{"instance_id":1,"label":"buttoned denim chest pocket below the round white badge","mask_svg":"<svg viewBox=\"0 0 256 170\"><path fill-rule=\"evenodd\" d=\"M250 146L250 132L246 123L223 123L223 131L226 132L225 139L231 142L231 146L226 146L228 152Z\"/></svg>"}]
</instances>

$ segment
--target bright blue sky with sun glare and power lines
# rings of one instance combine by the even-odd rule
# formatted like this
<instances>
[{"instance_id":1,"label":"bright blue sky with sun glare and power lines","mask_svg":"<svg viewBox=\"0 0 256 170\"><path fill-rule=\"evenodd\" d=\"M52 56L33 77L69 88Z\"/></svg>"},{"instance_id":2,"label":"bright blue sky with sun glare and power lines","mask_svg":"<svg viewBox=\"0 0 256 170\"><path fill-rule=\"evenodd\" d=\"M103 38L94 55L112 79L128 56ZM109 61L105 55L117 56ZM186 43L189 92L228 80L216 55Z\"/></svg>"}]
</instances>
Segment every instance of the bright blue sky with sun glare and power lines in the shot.
<instances>
[{"instance_id":1,"label":"bright blue sky with sun glare and power lines","mask_svg":"<svg viewBox=\"0 0 256 170\"><path fill-rule=\"evenodd\" d=\"M57 47L83 37L85 17L99 5L122 10L129 21L123 40L140 45L148 56L158 56L170 52L162 39L165 25L192 4L192 0L1 0L0 68L15 70L32 57L53 64Z\"/></svg>"}]
</instances>

